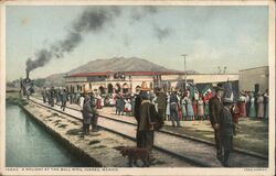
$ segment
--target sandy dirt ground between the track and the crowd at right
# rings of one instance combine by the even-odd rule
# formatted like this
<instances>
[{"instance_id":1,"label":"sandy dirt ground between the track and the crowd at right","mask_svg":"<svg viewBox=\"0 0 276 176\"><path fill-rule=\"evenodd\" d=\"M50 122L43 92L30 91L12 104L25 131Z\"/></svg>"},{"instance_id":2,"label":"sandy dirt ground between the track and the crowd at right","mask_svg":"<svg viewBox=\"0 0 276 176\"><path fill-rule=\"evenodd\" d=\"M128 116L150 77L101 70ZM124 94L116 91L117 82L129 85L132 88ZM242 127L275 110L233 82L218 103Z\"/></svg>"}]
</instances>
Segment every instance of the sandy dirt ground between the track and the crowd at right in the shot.
<instances>
[{"instance_id":1,"label":"sandy dirt ground between the track and the crowd at right","mask_svg":"<svg viewBox=\"0 0 276 176\"><path fill-rule=\"evenodd\" d=\"M166 130L214 142L210 121L182 121L182 128L172 128L167 121ZM234 147L268 155L268 120L240 118L240 128L233 141Z\"/></svg>"}]
</instances>

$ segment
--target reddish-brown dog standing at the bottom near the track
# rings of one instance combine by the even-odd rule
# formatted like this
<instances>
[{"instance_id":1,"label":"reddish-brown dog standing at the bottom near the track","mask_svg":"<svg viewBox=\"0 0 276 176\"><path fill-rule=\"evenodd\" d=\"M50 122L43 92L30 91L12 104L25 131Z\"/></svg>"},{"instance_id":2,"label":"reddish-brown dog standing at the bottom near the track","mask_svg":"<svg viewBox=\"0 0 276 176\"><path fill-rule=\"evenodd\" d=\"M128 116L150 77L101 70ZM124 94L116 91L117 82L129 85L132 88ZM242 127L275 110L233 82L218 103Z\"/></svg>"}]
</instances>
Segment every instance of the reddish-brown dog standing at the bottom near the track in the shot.
<instances>
[{"instance_id":1,"label":"reddish-brown dog standing at the bottom near the track","mask_svg":"<svg viewBox=\"0 0 276 176\"><path fill-rule=\"evenodd\" d=\"M144 167L150 166L150 152L145 147L137 146L117 146L117 151L120 151L120 154L126 157L128 156L128 165L132 167L132 164L137 165L137 160L141 160Z\"/></svg>"}]
</instances>

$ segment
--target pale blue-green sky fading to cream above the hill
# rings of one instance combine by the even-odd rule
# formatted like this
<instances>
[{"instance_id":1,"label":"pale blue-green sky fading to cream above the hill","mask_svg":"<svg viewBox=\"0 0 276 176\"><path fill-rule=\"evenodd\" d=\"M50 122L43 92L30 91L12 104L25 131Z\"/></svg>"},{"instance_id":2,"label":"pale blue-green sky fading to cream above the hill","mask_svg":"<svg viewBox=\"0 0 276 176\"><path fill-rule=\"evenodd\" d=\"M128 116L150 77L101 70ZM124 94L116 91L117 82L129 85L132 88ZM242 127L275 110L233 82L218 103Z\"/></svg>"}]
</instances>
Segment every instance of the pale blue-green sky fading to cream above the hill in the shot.
<instances>
[{"instance_id":1,"label":"pale blue-green sky fading to cream above the hill","mask_svg":"<svg viewBox=\"0 0 276 176\"><path fill-rule=\"evenodd\" d=\"M87 15L94 16L87 23ZM95 18L102 18L102 21ZM167 68L227 74L268 65L268 8L7 6L7 80L66 73L93 59L139 57ZM94 21L93 21L94 20ZM98 25L97 25L98 24ZM84 26L82 26L84 25ZM81 40L71 42L71 33ZM78 37L77 37L78 38ZM35 68L34 68L35 65ZM38 68L36 68L38 66Z\"/></svg>"}]
</instances>

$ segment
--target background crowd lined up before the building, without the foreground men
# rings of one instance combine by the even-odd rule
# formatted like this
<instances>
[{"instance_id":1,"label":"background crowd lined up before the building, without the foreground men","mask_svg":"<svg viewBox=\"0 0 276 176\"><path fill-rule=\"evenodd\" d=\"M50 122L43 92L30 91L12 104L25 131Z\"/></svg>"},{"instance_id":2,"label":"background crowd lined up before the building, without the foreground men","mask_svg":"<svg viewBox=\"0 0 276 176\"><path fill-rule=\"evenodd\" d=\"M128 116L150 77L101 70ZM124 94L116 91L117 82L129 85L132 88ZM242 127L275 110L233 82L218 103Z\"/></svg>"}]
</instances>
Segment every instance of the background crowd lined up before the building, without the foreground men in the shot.
<instances>
[{"instance_id":1,"label":"background crowd lined up before the building, without the foreground men","mask_svg":"<svg viewBox=\"0 0 276 176\"><path fill-rule=\"evenodd\" d=\"M157 112L164 121L171 121L172 127L181 127L180 121L209 120L210 119L210 99L212 91L206 94L199 92L192 96L189 89L184 92L171 89L164 92L162 89L148 91L149 101L155 105ZM91 98L91 105L94 109L103 107L115 107L115 113L118 116L135 116L135 101L137 94L123 95L121 92L113 95L100 95L97 91L87 92ZM79 105L81 92L67 92L66 89L44 88L42 90L44 102L52 107L61 102L61 109L65 110L66 102ZM237 102L233 102L232 113L236 124L242 117L248 118L268 118L268 90L261 94L252 91L241 91Z\"/></svg>"}]
</instances>

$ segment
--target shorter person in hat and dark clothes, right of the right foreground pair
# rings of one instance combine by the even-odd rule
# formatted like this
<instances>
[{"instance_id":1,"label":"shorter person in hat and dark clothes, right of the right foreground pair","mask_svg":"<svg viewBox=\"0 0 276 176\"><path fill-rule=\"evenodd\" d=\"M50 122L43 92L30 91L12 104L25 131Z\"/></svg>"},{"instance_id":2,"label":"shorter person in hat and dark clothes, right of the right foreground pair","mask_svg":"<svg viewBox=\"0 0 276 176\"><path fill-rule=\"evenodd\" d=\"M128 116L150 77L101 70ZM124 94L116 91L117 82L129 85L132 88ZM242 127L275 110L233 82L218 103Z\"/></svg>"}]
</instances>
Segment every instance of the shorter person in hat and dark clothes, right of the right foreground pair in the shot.
<instances>
[{"instance_id":1,"label":"shorter person in hat and dark clothes, right of the right foreground pair","mask_svg":"<svg viewBox=\"0 0 276 176\"><path fill-rule=\"evenodd\" d=\"M221 141L221 147L222 147L222 157L221 162L223 166L229 167L229 156L230 152L232 150L232 141L234 135L234 129L235 124L233 122L232 113L231 113L231 107L232 107L233 100L230 98L224 98L223 100L223 109L220 117L220 141Z\"/></svg>"}]
</instances>

